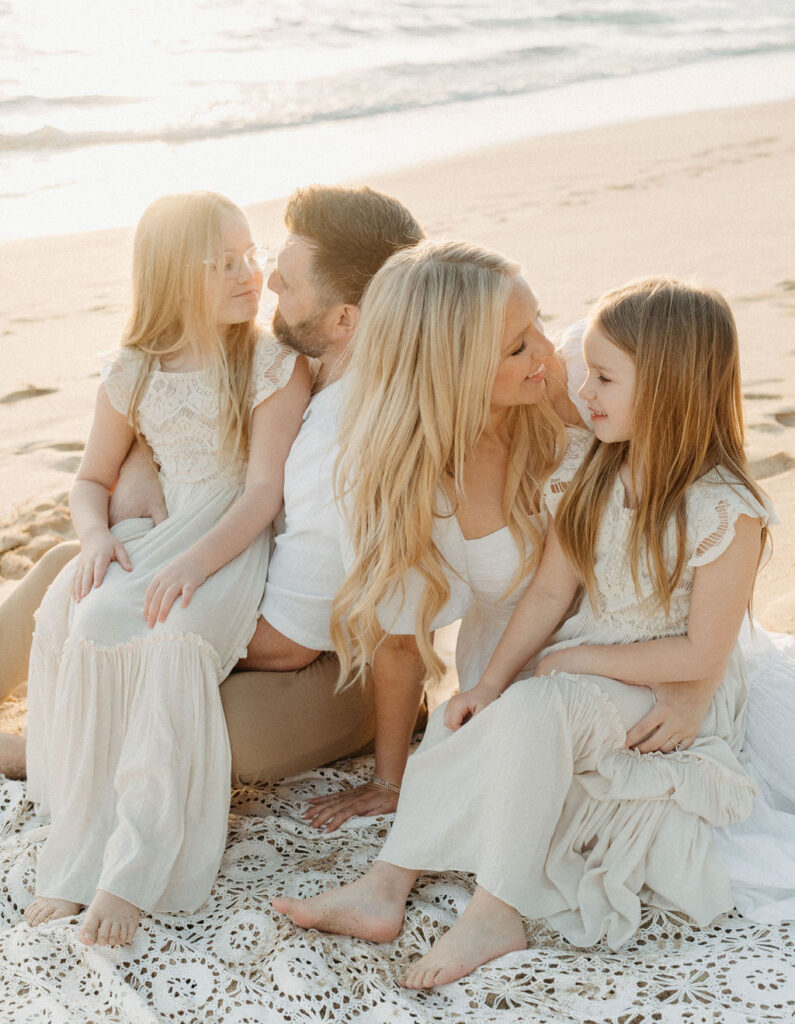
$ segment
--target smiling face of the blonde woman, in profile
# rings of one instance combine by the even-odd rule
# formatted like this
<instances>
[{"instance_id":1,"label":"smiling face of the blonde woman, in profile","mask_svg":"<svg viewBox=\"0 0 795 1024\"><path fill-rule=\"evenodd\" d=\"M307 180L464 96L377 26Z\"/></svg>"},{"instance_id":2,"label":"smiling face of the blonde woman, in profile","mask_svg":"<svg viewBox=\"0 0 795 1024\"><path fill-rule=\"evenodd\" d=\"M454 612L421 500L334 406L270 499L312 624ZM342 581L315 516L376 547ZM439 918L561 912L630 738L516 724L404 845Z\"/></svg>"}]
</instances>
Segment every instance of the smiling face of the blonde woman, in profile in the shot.
<instances>
[{"instance_id":1,"label":"smiling face of the blonde woman, in profile","mask_svg":"<svg viewBox=\"0 0 795 1024\"><path fill-rule=\"evenodd\" d=\"M538 299L518 274L513 279L501 339L502 358L492 386L492 408L533 406L546 393L546 366L554 346L539 319Z\"/></svg>"}]
</instances>

